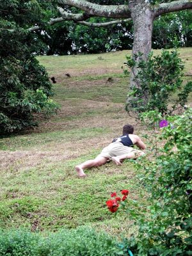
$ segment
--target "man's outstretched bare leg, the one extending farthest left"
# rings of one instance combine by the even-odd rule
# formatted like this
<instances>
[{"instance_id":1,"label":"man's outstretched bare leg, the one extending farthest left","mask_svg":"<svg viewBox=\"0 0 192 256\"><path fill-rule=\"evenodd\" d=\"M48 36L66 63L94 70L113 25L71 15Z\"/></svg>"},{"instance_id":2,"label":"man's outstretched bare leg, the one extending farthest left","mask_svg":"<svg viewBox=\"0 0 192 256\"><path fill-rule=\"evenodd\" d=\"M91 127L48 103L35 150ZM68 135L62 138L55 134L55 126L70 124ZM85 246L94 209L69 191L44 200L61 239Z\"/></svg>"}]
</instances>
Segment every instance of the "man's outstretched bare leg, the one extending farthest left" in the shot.
<instances>
[{"instance_id":1,"label":"man's outstretched bare leg, the one extending farthest left","mask_svg":"<svg viewBox=\"0 0 192 256\"><path fill-rule=\"evenodd\" d=\"M79 177L83 178L86 176L86 174L84 173L85 168L97 167L107 163L107 161L107 158L101 156L97 156L95 159L85 161L84 163L76 166L77 174L79 175Z\"/></svg>"}]
</instances>

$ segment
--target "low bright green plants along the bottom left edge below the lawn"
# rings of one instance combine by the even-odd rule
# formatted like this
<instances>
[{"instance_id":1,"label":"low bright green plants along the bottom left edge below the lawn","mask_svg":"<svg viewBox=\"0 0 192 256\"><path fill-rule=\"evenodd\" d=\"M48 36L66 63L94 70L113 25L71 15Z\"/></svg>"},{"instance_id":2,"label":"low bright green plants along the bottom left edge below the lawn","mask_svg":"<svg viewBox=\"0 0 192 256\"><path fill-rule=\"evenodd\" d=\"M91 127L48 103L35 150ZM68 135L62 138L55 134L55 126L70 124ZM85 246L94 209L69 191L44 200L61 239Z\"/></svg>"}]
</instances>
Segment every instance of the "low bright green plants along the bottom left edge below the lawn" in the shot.
<instances>
[{"instance_id":1,"label":"low bright green plants along the bottom left edge below the lawn","mask_svg":"<svg viewBox=\"0 0 192 256\"><path fill-rule=\"evenodd\" d=\"M108 234L88 227L60 230L47 237L26 230L0 232L0 255L4 256L113 256L124 255Z\"/></svg>"}]
</instances>

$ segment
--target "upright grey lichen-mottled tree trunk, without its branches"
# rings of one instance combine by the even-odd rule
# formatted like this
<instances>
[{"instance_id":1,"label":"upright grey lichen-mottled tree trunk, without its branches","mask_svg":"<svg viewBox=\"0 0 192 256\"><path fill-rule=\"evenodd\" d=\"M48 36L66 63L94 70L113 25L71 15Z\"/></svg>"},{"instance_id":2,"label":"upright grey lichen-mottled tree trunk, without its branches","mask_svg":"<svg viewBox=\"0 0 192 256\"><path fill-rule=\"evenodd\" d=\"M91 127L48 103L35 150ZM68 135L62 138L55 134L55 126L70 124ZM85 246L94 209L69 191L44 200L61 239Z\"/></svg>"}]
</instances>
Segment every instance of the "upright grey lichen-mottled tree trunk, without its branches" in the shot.
<instances>
[{"instance_id":1,"label":"upright grey lichen-mottled tree trunk, without its branches","mask_svg":"<svg viewBox=\"0 0 192 256\"><path fill-rule=\"evenodd\" d=\"M154 12L150 10L145 1L130 1L129 8L131 9L131 16L134 26L134 42L132 46L132 57L138 61L135 54L141 52L141 58L147 60L148 54L151 51L152 45L152 27L154 21ZM138 86L135 83L134 77L138 72L138 68L133 68L131 72L131 88Z\"/></svg>"}]
</instances>

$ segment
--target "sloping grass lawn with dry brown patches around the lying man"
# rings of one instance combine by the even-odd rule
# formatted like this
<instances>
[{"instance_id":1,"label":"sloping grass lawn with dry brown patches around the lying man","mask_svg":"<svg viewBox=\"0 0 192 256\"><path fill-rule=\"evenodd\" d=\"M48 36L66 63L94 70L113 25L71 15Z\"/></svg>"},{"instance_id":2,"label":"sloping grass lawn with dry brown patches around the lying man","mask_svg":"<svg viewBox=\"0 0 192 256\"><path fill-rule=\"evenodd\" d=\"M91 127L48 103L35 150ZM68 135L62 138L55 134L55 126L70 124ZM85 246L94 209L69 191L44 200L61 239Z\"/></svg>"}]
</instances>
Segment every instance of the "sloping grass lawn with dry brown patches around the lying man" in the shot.
<instances>
[{"instance_id":1,"label":"sloping grass lawn with dry brown patches around the lying man","mask_svg":"<svg viewBox=\"0 0 192 256\"><path fill-rule=\"evenodd\" d=\"M124 124L133 124L141 137L146 132L124 108L129 78L122 66L127 53L131 51L38 57L49 76L56 78L54 100L61 110L34 131L1 138L1 228L47 232L91 225L117 236L135 232L129 216L115 217L105 205L110 193L120 194L121 189L129 189L131 198L147 204L131 161L86 170L85 179L74 170L120 135ZM189 80L192 49L181 49L180 56Z\"/></svg>"}]
</instances>

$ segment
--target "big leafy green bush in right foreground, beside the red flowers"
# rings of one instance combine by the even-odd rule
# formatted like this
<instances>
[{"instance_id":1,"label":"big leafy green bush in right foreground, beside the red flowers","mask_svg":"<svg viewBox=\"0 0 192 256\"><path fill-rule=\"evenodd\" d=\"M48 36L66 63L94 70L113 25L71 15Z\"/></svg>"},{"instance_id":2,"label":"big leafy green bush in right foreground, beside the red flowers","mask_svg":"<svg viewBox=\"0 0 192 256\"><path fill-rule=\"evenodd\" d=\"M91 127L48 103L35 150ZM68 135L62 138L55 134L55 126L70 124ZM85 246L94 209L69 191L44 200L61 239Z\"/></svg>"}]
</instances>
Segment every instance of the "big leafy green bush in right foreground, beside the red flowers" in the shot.
<instances>
[{"instance_id":1,"label":"big leafy green bush in right foreground, beside the red flowers","mask_svg":"<svg viewBox=\"0 0 192 256\"><path fill-rule=\"evenodd\" d=\"M192 109L168 118L161 129L165 141L153 161L137 164L149 192L147 211L127 212L139 226L129 245L135 255L191 255L192 243Z\"/></svg>"}]
</instances>

